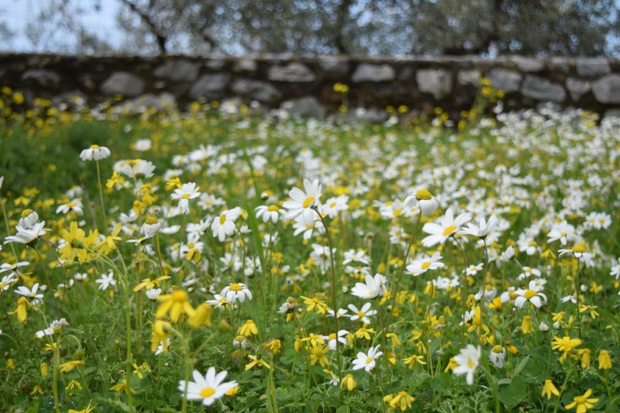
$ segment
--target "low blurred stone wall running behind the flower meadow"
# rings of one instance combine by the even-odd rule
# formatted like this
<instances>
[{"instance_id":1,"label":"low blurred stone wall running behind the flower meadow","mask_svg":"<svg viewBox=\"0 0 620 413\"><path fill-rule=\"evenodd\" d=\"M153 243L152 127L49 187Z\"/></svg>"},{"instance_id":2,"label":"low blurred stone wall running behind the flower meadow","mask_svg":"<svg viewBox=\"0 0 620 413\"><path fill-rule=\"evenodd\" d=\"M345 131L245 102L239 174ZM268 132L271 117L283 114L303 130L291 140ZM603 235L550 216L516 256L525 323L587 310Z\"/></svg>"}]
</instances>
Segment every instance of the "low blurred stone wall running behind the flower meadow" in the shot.
<instances>
[{"instance_id":1,"label":"low blurred stone wall running behind the flower meadow","mask_svg":"<svg viewBox=\"0 0 620 413\"><path fill-rule=\"evenodd\" d=\"M342 95L333 86L342 82L350 87L350 107L371 109L366 110L369 120L382 120L387 105L440 106L454 113L469 109L480 76L505 91L506 109L541 102L599 113L620 108L618 60L0 55L0 86L22 92L26 104L34 97L70 104L69 96L79 95L96 105L122 95L117 104L184 110L194 100L240 97L263 108L323 116L339 107Z\"/></svg>"}]
</instances>

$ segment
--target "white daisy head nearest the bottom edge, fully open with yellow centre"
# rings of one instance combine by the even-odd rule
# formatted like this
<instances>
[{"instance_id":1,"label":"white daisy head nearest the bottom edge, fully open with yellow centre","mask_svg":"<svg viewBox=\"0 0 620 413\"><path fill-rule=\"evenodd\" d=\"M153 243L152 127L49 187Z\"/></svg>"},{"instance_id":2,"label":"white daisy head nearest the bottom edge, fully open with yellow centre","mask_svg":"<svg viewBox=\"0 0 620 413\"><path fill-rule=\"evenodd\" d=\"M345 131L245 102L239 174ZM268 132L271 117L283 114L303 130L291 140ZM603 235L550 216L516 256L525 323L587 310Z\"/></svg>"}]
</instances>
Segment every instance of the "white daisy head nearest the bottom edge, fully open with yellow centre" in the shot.
<instances>
[{"instance_id":1,"label":"white daisy head nearest the bottom edge, fully open with yellow centre","mask_svg":"<svg viewBox=\"0 0 620 413\"><path fill-rule=\"evenodd\" d=\"M236 381L224 382L227 375L226 370L216 374L214 367L210 367L204 377L198 370L194 370L193 381L179 381L179 391L185 393L187 390L187 400L202 400L202 404L211 406L213 402L239 385Z\"/></svg>"}]
</instances>

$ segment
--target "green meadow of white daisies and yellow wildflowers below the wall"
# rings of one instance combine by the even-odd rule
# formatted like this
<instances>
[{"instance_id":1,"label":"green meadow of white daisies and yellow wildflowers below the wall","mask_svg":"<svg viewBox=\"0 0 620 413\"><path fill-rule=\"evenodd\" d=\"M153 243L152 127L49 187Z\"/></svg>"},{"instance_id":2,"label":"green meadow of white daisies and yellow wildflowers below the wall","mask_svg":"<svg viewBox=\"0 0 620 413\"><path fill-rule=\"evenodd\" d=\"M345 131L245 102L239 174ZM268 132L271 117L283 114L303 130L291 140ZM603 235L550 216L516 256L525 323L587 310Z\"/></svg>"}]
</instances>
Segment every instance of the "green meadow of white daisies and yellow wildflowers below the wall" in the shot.
<instances>
[{"instance_id":1,"label":"green meadow of white daisies and yellow wildflowers below the wall","mask_svg":"<svg viewBox=\"0 0 620 413\"><path fill-rule=\"evenodd\" d=\"M2 99L2 411L618 411L620 120Z\"/></svg>"}]
</instances>

